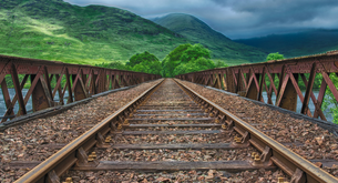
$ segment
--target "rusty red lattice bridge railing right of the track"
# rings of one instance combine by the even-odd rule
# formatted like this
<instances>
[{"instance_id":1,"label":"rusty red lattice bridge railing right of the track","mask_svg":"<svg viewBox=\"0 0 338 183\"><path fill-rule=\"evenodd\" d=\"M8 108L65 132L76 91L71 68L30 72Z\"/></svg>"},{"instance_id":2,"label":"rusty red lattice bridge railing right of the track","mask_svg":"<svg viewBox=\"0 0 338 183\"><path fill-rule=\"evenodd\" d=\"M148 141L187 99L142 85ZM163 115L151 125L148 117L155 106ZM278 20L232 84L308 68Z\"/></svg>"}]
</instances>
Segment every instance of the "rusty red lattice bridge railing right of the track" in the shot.
<instances>
[{"instance_id":1,"label":"rusty red lattice bridge railing right of the track","mask_svg":"<svg viewBox=\"0 0 338 183\"><path fill-rule=\"evenodd\" d=\"M320 78L318 95L314 94L315 78ZM338 92L330 77L338 77L338 52L327 52L309 57L242 64L223 69L192 72L176 78L194 83L224 89L242 96L266 102L290 111L296 111L297 96L301 102L303 114L326 120L322 102L326 90L338 102ZM300 82L306 87L305 94ZM276 83L276 84L275 84ZM317 84L318 85L318 84ZM264 101L263 92L267 100ZM273 94L276 100L273 100ZM316 93L317 94L317 93ZM309 101L315 110L309 110Z\"/></svg>"}]
</instances>

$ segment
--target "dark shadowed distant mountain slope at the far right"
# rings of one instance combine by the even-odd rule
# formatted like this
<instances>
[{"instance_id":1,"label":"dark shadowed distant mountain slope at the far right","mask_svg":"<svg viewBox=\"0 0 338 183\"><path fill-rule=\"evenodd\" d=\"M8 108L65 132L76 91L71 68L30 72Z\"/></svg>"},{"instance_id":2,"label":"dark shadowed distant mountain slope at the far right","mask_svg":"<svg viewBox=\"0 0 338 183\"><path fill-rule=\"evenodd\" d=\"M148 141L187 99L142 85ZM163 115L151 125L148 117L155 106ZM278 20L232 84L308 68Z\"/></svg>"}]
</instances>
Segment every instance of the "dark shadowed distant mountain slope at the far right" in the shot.
<instances>
[{"instance_id":1,"label":"dark shadowed distant mountain slope at the far right","mask_svg":"<svg viewBox=\"0 0 338 183\"><path fill-rule=\"evenodd\" d=\"M338 50L338 30L320 29L235 41L294 58Z\"/></svg>"}]
</instances>

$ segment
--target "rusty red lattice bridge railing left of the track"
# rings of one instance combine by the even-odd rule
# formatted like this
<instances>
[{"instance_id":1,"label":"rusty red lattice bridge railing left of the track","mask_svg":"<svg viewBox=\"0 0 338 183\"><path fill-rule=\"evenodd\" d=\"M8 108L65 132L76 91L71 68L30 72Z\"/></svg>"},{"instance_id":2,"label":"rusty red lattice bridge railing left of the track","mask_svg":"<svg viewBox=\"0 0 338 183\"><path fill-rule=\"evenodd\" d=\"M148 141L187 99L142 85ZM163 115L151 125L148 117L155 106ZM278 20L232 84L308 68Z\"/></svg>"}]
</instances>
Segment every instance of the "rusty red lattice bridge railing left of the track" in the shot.
<instances>
[{"instance_id":1,"label":"rusty red lattice bridge railing left of the track","mask_svg":"<svg viewBox=\"0 0 338 183\"><path fill-rule=\"evenodd\" d=\"M35 112L160 78L161 75L132 71L0 55L0 84L3 94L0 105L6 106L0 120L4 122L27 114L29 100ZM14 110L16 105L19 108Z\"/></svg>"}]
</instances>

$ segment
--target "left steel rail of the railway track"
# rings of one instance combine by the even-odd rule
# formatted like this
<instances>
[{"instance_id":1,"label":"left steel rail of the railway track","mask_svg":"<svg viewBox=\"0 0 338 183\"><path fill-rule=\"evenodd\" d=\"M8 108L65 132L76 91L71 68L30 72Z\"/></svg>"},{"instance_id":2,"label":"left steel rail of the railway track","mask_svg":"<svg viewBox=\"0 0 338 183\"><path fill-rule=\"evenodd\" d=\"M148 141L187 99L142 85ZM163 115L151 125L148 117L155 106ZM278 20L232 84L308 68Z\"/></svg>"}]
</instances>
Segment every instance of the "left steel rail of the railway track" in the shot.
<instances>
[{"instance_id":1,"label":"left steel rail of the railway track","mask_svg":"<svg viewBox=\"0 0 338 183\"><path fill-rule=\"evenodd\" d=\"M16 183L50 182L48 179L51 179L53 175L60 176L63 174L68 169L76 163L76 153L79 153L79 149L83 148L84 151L90 150L98 143L99 133L104 135L109 131L116 129L117 124L122 123L130 114L130 112L135 110L143 101L145 101L147 96L163 83L163 81L164 80L161 80L158 83L143 92L136 99L129 102L120 110L86 131L84 134L70 142L55 154L17 180ZM50 175L49 173L52 171L55 173Z\"/></svg>"}]
</instances>

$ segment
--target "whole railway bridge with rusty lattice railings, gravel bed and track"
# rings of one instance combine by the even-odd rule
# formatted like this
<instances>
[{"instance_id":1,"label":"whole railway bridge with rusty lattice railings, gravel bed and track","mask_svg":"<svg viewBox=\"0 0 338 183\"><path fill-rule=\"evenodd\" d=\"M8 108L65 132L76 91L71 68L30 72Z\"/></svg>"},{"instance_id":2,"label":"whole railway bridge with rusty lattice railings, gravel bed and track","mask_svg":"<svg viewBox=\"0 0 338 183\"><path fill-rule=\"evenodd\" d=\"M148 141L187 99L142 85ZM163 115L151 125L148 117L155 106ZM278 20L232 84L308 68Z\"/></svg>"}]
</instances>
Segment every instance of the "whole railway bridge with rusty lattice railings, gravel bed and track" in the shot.
<instances>
[{"instance_id":1,"label":"whole railway bridge with rusty lattice railings, gravel bed and track","mask_svg":"<svg viewBox=\"0 0 338 183\"><path fill-rule=\"evenodd\" d=\"M338 182L337 73L335 52L175 79L1 55L0 180Z\"/></svg>"}]
</instances>

